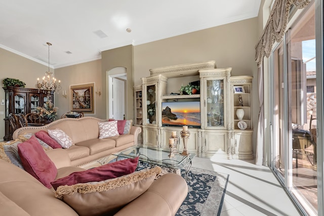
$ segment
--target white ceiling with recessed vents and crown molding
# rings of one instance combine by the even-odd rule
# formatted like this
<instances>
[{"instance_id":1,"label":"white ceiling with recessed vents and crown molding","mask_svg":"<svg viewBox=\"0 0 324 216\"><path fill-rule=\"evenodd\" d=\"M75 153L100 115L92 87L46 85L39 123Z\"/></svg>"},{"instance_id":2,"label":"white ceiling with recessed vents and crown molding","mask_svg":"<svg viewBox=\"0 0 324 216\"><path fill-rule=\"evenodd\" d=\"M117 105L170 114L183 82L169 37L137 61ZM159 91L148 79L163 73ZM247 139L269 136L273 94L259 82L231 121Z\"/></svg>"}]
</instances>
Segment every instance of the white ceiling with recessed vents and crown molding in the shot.
<instances>
[{"instance_id":1,"label":"white ceiling with recessed vents and crown molding","mask_svg":"<svg viewBox=\"0 0 324 216\"><path fill-rule=\"evenodd\" d=\"M53 68L258 16L261 0L2 0L0 48ZM127 32L131 28L131 32ZM107 37L99 37L104 33ZM66 52L71 52L67 54Z\"/></svg>"}]
</instances>

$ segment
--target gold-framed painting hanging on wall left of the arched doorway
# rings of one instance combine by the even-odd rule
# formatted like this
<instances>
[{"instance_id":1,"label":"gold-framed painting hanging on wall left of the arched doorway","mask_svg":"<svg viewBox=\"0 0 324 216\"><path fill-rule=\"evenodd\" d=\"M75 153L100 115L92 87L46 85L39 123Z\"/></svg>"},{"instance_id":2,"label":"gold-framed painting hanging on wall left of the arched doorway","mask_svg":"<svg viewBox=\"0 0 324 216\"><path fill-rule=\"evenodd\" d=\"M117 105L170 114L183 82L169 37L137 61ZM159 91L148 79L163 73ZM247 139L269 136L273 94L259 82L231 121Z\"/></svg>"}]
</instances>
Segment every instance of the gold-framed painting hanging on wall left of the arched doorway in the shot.
<instances>
[{"instance_id":1,"label":"gold-framed painting hanging on wall left of the arched doorway","mask_svg":"<svg viewBox=\"0 0 324 216\"><path fill-rule=\"evenodd\" d=\"M94 113L94 83L70 86L71 111Z\"/></svg>"}]
</instances>

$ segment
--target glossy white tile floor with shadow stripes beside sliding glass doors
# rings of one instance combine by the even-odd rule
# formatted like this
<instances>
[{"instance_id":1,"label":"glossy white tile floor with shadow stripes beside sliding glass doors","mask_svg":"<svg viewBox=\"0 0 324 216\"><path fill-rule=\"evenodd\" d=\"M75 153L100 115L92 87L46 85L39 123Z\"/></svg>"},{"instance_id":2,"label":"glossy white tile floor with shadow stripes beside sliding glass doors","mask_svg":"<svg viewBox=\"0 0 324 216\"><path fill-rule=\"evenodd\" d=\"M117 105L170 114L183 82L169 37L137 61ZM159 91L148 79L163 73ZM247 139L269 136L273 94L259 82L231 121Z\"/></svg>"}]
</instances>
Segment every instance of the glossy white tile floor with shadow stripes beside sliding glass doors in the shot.
<instances>
[{"instance_id":1,"label":"glossy white tile floor with shadow stripes beside sliding glass doors","mask_svg":"<svg viewBox=\"0 0 324 216\"><path fill-rule=\"evenodd\" d=\"M221 216L300 215L267 166L254 161L195 157L193 167L229 174Z\"/></svg>"}]
</instances>

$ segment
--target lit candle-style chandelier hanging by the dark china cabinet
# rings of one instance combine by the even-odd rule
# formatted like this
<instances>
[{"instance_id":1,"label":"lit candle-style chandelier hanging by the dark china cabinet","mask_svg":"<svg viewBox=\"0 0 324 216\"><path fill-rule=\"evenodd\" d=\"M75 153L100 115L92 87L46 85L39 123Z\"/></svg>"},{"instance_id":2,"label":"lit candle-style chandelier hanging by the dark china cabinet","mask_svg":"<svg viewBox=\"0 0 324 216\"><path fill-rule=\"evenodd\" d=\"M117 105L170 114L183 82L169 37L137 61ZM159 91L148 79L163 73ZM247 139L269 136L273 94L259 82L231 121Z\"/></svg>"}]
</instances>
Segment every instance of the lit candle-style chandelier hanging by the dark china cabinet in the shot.
<instances>
[{"instance_id":1,"label":"lit candle-style chandelier hanging by the dark china cabinet","mask_svg":"<svg viewBox=\"0 0 324 216\"><path fill-rule=\"evenodd\" d=\"M50 71L50 46L52 46L52 44L49 42L47 42L47 44L49 45L49 70L45 72L42 83L40 83L39 78L37 78L35 87L38 89L38 92L41 90L47 92L47 97L50 99L51 92L59 91L62 87L61 81L59 80L57 83L53 73Z\"/></svg>"}]
</instances>

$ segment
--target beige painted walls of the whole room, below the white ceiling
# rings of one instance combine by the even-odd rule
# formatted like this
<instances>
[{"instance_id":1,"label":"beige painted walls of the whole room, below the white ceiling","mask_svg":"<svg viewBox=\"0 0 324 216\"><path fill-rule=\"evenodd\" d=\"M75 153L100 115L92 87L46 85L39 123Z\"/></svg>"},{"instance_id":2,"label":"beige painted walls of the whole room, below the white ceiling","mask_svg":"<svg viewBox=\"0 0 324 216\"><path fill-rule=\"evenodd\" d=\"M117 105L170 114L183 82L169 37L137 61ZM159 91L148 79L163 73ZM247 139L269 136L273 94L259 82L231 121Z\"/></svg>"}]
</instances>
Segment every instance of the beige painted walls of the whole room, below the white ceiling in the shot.
<instances>
[{"instance_id":1,"label":"beige painted walls of the whole room, below the white ceiling","mask_svg":"<svg viewBox=\"0 0 324 216\"><path fill-rule=\"evenodd\" d=\"M102 52L101 60L57 68L55 69L55 76L61 80L62 89L66 90L67 93L70 85L95 83L96 87L99 88L100 86L101 96L99 97L99 95L95 94L95 114L88 114L86 116L106 118L107 71L114 67L125 67L127 69L127 101L129 104L126 118L133 119L133 86L141 84L140 78L149 76L149 69L215 60L219 68L232 67L232 76L250 75L254 77L253 110L256 112L253 112L253 125L255 136L259 105L254 46L259 37L258 26L258 18L252 18L134 47L129 45L107 50ZM6 59L7 65L4 67L3 63L0 64L2 78L21 79L27 83L27 87L33 87L36 78L43 77L47 70L45 65L35 63L8 51L1 49L0 51L1 61ZM4 58L2 55L4 55ZM24 63L17 64L17 62ZM23 71L29 71L30 74L25 78ZM180 86L181 84L175 89L180 89ZM3 90L0 95L1 97L4 98ZM59 116L69 111L69 100L69 94L67 98L62 96L62 92L56 95L55 105L59 107ZM0 109L4 111L5 106L0 106ZM4 136L5 130L2 119L0 120L0 139ZM254 146L255 140L256 138L254 137Z\"/></svg>"}]
</instances>

